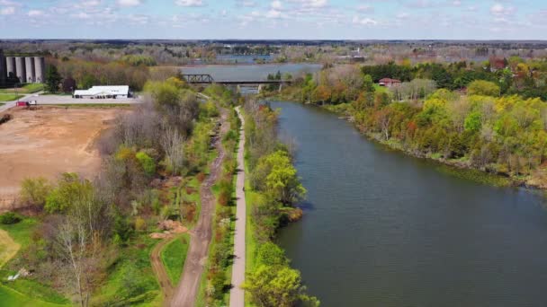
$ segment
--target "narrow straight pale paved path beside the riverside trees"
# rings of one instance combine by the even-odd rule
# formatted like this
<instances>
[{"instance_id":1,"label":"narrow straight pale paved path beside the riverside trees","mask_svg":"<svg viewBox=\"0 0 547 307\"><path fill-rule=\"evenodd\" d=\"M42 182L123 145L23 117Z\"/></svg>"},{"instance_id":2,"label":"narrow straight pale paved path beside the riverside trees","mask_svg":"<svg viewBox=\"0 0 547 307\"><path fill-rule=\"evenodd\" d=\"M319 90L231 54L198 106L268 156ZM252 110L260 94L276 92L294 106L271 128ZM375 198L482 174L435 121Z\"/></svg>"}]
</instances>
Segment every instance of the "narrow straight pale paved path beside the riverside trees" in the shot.
<instances>
[{"instance_id":1,"label":"narrow straight pale paved path beside the riverside trees","mask_svg":"<svg viewBox=\"0 0 547 307\"><path fill-rule=\"evenodd\" d=\"M236 197L238 199L236 213L236 234L234 239L234 267L232 268L232 288L229 293L230 307L245 306L245 291L241 289L241 284L245 281L245 229L247 220L247 204L245 201L245 125L244 118L241 116L239 107L239 119L241 119L241 129L239 130L238 146L238 178L236 180Z\"/></svg>"}]
</instances>

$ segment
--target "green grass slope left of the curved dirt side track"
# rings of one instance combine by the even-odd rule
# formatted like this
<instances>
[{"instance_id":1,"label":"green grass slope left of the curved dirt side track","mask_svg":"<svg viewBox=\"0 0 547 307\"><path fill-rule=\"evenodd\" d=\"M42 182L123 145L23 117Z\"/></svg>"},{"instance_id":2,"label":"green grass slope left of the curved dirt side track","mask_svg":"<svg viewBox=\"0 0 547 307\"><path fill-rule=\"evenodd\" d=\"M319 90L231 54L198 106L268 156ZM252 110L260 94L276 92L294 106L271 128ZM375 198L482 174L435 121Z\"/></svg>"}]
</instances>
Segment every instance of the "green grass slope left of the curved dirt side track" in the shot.
<instances>
[{"instance_id":1,"label":"green grass slope left of the curved dirt side track","mask_svg":"<svg viewBox=\"0 0 547 307\"><path fill-rule=\"evenodd\" d=\"M92 305L161 305L163 298L150 263L150 253L157 240L149 238L147 233L140 233L128 244L120 249L119 259L109 268L107 279L95 292ZM126 285L129 268L135 270L133 278L139 279L139 293L127 294L127 291L135 288Z\"/></svg>"}]
</instances>

